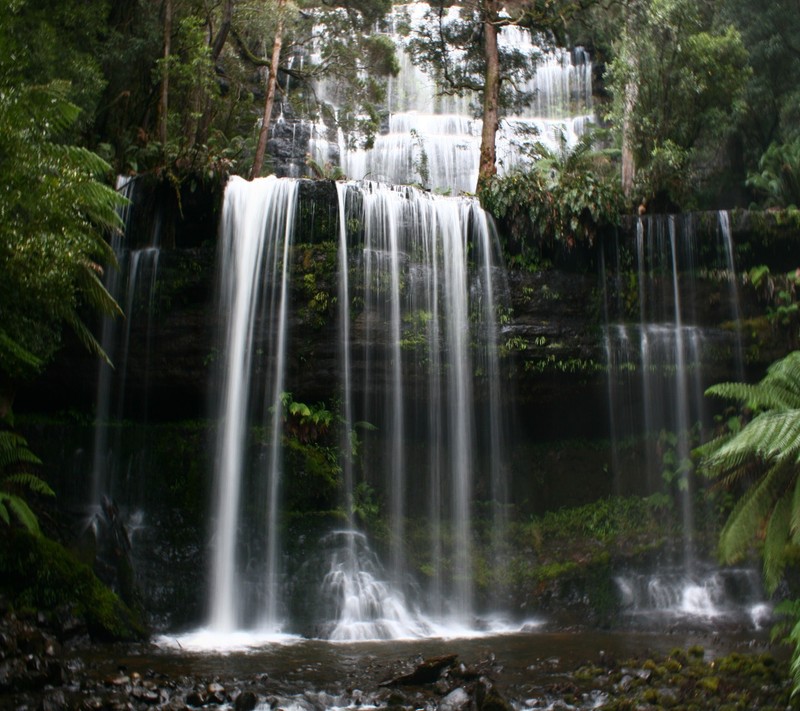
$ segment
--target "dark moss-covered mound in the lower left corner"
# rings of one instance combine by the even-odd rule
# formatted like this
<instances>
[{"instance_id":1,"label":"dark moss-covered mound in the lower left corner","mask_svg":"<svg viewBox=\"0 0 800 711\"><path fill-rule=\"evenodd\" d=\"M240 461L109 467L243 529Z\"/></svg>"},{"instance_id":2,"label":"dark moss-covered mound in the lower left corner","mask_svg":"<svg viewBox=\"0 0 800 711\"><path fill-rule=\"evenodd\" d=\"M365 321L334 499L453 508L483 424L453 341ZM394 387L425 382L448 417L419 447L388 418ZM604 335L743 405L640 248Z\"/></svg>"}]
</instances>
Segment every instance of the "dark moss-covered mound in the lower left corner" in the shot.
<instances>
[{"instance_id":1,"label":"dark moss-covered mound in the lower left corner","mask_svg":"<svg viewBox=\"0 0 800 711\"><path fill-rule=\"evenodd\" d=\"M0 537L0 594L19 612L54 617L59 610L86 624L98 641L143 639L137 616L61 544L21 531Z\"/></svg>"}]
</instances>

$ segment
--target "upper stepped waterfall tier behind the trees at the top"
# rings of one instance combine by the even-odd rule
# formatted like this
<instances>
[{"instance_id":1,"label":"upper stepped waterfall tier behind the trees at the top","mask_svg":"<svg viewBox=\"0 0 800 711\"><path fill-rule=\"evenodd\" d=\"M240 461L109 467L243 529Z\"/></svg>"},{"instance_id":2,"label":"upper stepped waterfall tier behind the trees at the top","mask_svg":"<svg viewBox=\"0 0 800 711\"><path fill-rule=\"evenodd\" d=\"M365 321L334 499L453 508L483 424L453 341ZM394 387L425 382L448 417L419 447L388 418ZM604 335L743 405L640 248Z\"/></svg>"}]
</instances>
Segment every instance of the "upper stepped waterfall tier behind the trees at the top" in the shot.
<instances>
[{"instance_id":1,"label":"upper stepped waterfall tier behind the trees at the top","mask_svg":"<svg viewBox=\"0 0 800 711\"><path fill-rule=\"evenodd\" d=\"M395 7L388 37L398 50L400 71L389 81L388 119L369 148L318 121L309 141L309 153L320 165L341 167L349 178L387 183L418 184L453 193L475 189L481 140L479 97L460 96L417 66L411 57L409 36L425 22L425 3ZM455 21L457 8L448 12ZM412 28L402 33L401 19ZM503 173L524 164L533 144L552 150L575 143L592 117L592 64L581 48L569 51L537 44L528 30L513 25L500 34L501 52L524 58L530 77L516 83L526 99L507 115L497 136L498 170ZM337 105L335 87L321 86L320 98Z\"/></svg>"}]
</instances>

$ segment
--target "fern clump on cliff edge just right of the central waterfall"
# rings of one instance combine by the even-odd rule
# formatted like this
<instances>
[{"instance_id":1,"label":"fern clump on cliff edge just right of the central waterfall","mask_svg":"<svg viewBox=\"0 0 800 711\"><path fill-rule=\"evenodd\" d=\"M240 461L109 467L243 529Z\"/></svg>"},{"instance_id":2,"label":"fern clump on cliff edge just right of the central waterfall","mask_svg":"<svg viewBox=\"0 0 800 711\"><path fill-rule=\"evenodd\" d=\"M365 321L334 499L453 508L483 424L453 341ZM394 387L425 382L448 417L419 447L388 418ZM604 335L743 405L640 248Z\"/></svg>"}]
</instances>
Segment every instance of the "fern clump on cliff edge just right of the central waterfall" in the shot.
<instances>
[{"instance_id":1,"label":"fern clump on cliff edge just right of the central waterfall","mask_svg":"<svg viewBox=\"0 0 800 711\"><path fill-rule=\"evenodd\" d=\"M529 168L496 177L481 191L481 203L510 232L511 264L536 264L556 244L571 249L594 243L602 227L619 224L622 197L607 159L584 136L571 150L537 144Z\"/></svg>"}]
</instances>

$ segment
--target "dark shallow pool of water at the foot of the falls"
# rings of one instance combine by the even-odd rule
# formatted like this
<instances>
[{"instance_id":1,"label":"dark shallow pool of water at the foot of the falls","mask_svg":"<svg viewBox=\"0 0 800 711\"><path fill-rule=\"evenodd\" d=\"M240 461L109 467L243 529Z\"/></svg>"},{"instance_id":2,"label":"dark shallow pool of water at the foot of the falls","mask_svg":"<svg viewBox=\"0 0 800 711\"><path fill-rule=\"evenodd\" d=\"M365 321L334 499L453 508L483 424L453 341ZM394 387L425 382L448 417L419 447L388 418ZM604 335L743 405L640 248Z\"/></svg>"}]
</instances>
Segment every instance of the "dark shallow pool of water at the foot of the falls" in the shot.
<instances>
[{"instance_id":1,"label":"dark shallow pool of water at the foot of the falls","mask_svg":"<svg viewBox=\"0 0 800 711\"><path fill-rule=\"evenodd\" d=\"M518 708L543 690L568 681L586 663L608 665L638 658L644 661L677 648L700 645L706 659L731 651L758 652L769 648L765 630L627 629L616 631L533 629L472 639L422 639L331 643L293 640L266 643L247 650L188 651L166 642L133 647L105 647L81 654L89 677L109 678L125 673L157 676L183 685L215 680L229 686L257 680L283 700L311 698L319 707L353 703L353 690L363 691L359 703L370 705L382 682L411 671L422 659L457 654L467 668L491 676L506 698ZM771 650L775 652L776 650ZM780 648L778 654L783 652ZM591 707L591 703L581 708Z\"/></svg>"}]
</instances>

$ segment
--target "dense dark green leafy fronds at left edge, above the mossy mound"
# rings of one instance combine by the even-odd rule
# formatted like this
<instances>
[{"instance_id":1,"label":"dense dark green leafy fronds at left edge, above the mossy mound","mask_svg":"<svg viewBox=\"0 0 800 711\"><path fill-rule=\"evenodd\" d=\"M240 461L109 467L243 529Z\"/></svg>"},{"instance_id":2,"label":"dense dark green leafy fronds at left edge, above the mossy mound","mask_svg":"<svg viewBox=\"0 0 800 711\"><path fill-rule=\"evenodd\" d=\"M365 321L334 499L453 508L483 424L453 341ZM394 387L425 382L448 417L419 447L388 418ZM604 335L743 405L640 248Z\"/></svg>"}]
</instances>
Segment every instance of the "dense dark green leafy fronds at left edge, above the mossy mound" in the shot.
<instances>
[{"instance_id":1,"label":"dense dark green leafy fronds at left edge, above the mossy mound","mask_svg":"<svg viewBox=\"0 0 800 711\"><path fill-rule=\"evenodd\" d=\"M105 235L119 226L123 200L98 180L109 170L103 160L60 142L79 113L68 91L0 77L0 371L12 379L53 356L64 325L105 357L80 311L121 313L99 265L116 264Z\"/></svg>"}]
</instances>

